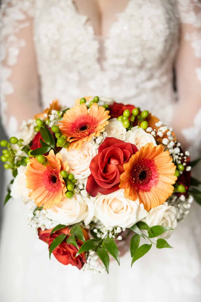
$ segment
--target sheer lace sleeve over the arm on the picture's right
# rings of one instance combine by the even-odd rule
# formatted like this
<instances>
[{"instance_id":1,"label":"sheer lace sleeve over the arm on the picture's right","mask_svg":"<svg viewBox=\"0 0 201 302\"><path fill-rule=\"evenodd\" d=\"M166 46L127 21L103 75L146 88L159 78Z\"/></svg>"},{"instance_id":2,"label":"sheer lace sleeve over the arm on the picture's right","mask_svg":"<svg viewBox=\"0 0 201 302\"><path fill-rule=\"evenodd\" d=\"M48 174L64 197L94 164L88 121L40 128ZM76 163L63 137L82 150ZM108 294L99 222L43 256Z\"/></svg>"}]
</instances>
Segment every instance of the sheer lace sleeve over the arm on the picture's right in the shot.
<instances>
[{"instance_id":1,"label":"sheer lace sleeve over the arm on the picture's right","mask_svg":"<svg viewBox=\"0 0 201 302\"><path fill-rule=\"evenodd\" d=\"M184 146L196 157L201 145L201 1L177 2L181 20L176 61L179 101L173 124L180 130Z\"/></svg>"}]
</instances>

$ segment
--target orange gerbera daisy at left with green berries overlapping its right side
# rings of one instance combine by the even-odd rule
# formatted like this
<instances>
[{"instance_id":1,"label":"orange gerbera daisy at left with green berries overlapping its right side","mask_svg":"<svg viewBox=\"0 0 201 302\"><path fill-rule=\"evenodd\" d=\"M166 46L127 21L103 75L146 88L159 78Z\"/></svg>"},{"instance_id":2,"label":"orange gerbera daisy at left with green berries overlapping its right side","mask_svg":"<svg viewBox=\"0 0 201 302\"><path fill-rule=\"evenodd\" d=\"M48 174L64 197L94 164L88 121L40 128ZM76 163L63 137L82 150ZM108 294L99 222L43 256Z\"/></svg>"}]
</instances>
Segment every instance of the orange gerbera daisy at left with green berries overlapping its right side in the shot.
<instances>
[{"instance_id":1,"label":"orange gerbera daisy at left with green berries overlapping its right side","mask_svg":"<svg viewBox=\"0 0 201 302\"><path fill-rule=\"evenodd\" d=\"M32 190L30 198L35 200L37 206L43 205L44 209L58 204L66 197L67 189L60 172L69 169L68 162L62 163L60 153L55 155L54 151L50 150L46 159L48 163L42 165L37 159L31 158L25 173L27 188Z\"/></svg>"}]
</instances>

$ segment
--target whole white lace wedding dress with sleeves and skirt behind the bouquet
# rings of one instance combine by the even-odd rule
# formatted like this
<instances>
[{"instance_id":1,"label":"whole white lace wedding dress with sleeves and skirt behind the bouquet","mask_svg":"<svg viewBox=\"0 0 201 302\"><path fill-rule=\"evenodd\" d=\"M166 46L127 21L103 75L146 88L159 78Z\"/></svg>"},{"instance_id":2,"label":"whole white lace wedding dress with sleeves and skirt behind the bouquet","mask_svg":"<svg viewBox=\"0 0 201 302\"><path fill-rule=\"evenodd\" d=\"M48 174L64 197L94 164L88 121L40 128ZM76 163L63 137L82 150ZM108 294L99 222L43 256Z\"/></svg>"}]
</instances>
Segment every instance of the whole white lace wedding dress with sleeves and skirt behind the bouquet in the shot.
<instances>
[{"instance_id":1,"label":"whole white lace wedding dress with sleeves and skirt behind the bouquet","mask_svg":"<svg viewBox=\"0 0 201 302\"><path fill-rule=\"evenodd\" d=\"M170 125L176 119L193 156L198 155L199 0L129 0L106 37L95 34L72 0L4 0L1 15L1 111L8 133L14 135L17 120L39 110L37 100L44 108L54 98L69 107L76 98L104 95L150 110ZM111 262L109 275L82 272L54 257L50 261L47 246L27 227L28 207L10 200L2 211L2 302L200 301L201 210L196 204L169 240L174 249L153 248L132 269L128 252L120 267Z\"/></svg>"}]
</instances>

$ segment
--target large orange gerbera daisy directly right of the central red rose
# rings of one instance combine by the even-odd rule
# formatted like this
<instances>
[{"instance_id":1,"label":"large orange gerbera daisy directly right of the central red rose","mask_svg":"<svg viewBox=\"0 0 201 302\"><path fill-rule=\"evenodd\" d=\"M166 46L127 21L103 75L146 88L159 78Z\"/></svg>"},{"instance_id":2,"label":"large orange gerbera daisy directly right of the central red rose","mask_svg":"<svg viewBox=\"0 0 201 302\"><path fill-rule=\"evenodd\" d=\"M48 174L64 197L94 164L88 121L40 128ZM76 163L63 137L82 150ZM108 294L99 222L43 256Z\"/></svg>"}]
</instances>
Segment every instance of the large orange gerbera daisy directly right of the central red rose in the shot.
<instances>
[{"instance_id":1,"label":"large orange gerbera daisy directly right of the central red rose","mask_svg":"<svg viewBox=\"0 0 201 302\"><path fill-rule=\"evenodd\" d=\"M177 180L175 170L169 151L164 151L161 145L155 147L148 143L124 164L119 187L124 189L126 198L133 201L138 198L149 211L163 204L173 193L172 185Z\"/></svg>"}]
</instances>

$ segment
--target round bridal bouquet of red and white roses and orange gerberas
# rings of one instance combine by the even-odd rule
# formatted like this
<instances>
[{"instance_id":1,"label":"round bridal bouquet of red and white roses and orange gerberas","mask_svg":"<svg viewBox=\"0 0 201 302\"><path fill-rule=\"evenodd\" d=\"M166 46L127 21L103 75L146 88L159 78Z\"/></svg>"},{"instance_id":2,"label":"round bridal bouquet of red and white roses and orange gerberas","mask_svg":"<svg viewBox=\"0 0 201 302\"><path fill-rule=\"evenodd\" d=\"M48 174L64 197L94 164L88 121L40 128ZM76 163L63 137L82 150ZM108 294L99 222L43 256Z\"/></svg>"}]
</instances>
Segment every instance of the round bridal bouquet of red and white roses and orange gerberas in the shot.
<instances>
[{"instance_id":1,"label":"round bridal bouquet of red and white roses and orange gerberas","mask_svg":"<svg viewBox=\"0 0 201 302\"><path fill-rule=\"evenodd\" d=\"M64 265L107 271L118 242L130 239L131 266L166 239L200 202L189 153L171 128L147 110L108 98L57 100L10 141L1 159L13 197L31 203L29 227ZM144 241L140 245L140 241ZM122 243L121 242L121 243Z\"/></svg>"}]
</instances>

